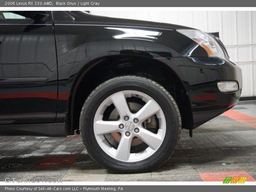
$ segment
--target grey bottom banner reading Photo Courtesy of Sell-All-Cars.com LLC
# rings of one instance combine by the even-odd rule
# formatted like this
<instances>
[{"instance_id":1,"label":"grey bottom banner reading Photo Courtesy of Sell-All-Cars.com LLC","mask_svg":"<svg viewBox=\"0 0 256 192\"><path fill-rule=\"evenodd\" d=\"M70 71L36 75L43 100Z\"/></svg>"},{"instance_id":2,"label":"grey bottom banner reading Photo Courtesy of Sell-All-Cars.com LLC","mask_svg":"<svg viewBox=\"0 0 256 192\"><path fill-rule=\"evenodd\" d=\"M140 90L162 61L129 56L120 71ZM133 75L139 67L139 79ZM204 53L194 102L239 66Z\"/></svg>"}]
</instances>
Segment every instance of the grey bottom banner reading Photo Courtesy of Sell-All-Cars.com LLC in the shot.
<instances>
[{"instance_id":1,"label":"grey bottom banner reading Photo Courtesy of Sell-All-Cars.com LLC","mask_svg":"<svg viewBox=\"0 0 256 192\"><path fill-rule=\"evenodd\" d=\"M227 187L229 186L229 187ZM243 186L243 187L242 187ZM215 186L209 186L209 185L202 185L202 186L196 186L196 185L79 185L79 186L61 186L61 185L50 185L50 186L0 186L0 191L7 192L49 192L49 191L62 191L62 192L106 192L106 191L118 191L118 192L167 192L167 191L193 191L193 190L200 190L200 191L207 191L207 192L220 192L222 190L231 190L232 192L235 191L241 191L243 190L252 190L255 189L255 186L250 185L234 185L234 184L223 184L223 185L215 185Z\"/></svg>"}]
</instances>

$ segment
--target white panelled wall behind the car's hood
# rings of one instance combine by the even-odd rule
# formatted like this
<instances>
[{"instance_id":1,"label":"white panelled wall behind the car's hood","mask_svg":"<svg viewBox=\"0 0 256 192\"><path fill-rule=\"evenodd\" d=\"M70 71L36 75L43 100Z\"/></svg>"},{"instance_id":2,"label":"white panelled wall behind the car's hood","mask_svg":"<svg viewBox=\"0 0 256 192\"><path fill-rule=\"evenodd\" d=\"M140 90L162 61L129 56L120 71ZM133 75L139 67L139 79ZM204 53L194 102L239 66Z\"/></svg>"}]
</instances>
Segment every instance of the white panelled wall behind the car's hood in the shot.
<instances>
[{"instance_id":1,"label":"white panelled wall behind the car's hood","mask_svg":"<svg viewBox=\"0 0 256 192\"><path fill-rule=\"evenodd\" d=\"M230 60L243 71L243 97L256 96L255 11L92 11L92 14L165 22L220 32Z\"/></svg>"}]
</instances>

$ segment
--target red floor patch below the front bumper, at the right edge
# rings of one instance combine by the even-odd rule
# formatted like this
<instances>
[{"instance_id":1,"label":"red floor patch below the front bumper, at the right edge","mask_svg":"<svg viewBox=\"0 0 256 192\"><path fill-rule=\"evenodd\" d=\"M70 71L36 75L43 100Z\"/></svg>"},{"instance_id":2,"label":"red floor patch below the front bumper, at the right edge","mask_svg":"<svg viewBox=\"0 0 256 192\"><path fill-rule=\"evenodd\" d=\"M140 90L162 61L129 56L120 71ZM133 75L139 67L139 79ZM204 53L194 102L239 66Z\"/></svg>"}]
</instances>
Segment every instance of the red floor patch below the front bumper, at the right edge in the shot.
<instances>
[{"instance_id":1,"label":"red floor patch below the front bumper, at the right edge","mask_svg":"<svg viewBox=\"0 0 256 192\"><path fill-rule=\"evenodd\" d=\"M228 110L225 113L223 113L223 115L225 115L231 119L235 119L236 121L239 121L239 122L249 125L251 127L256 128L256 118L255 117L245 115L243 113L240 113L240 112L237 112L234 110Z\"/></svg>"}]
</instances>

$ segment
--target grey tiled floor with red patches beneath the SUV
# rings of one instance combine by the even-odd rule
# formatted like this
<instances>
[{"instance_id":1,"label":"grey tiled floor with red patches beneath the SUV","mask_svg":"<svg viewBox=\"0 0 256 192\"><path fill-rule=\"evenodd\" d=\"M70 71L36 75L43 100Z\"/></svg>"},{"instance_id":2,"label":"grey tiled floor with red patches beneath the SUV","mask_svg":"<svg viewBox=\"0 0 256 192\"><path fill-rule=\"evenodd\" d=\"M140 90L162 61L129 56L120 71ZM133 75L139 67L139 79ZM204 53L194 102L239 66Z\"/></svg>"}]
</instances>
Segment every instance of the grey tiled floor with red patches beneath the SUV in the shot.
<instances>
[{"instance_id":1,"label":"grey tiled floor with red patches beneath the SUV","mask_svg":"<svg viewBox=\"0 0 256 192\"><path fill-rule=\"evenodd\" d=\"M101 168L84 150L80 135L50 138L0 136L0 181L6 177L62 181L256 181L256 101L241 101L232 110L195 129L182 130L172 158L141 174L115 174Z\"/></svg>"}]
</instances>

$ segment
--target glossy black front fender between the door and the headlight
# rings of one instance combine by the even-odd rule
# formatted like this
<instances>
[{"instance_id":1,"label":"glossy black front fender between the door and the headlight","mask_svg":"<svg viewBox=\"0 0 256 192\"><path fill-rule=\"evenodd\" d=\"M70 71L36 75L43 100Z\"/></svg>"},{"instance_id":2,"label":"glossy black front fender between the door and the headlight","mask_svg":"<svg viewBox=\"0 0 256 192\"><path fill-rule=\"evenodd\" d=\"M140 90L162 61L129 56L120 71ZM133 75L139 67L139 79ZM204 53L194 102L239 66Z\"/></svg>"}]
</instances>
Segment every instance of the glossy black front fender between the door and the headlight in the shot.
<instances>
[{"instance_id":1,"label":"glossy black front fender between the door and the headlight","mask_svg":"<svg viewBox=\"0 0 256 192\"><path fill-rule=\"evenodd\" d=\"M122 36L125 34L125 29L130 30L130 35ZM57 122L67 120L71 95L81 74L105 57L114 55L140 56L148 59L182 58L191 55L208 57L204 48L174 29L55 22L54 32L59 80ZM136 37L131 35L134 34L133 32L135 33L133 36ZM169 67L172 68L172 65Z\"/></svg>"}]
</instances>

